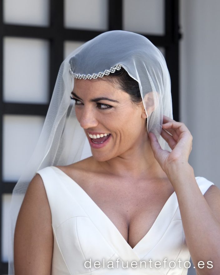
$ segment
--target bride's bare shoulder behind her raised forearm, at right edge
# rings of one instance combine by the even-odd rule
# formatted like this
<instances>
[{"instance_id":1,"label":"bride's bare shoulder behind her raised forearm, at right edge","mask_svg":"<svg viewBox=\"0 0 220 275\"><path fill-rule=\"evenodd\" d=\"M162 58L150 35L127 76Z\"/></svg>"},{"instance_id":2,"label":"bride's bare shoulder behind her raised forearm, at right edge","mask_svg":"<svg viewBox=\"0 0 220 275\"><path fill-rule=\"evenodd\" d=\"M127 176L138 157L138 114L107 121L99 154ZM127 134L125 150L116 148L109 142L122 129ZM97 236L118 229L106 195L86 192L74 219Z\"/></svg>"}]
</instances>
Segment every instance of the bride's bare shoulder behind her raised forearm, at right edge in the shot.
<instances>
[{"instance_id":1,"label":"bride's bare shoulder behind her raised forearm, at right edge","mask_svg":"<svg viewBox=\"0 0 220 275\"><path fill-rule=\"evenodd\" d=\"M211 185L205 192L204 198L220 223L220 189L216 185Z\"/></svg>"}]
</instances>

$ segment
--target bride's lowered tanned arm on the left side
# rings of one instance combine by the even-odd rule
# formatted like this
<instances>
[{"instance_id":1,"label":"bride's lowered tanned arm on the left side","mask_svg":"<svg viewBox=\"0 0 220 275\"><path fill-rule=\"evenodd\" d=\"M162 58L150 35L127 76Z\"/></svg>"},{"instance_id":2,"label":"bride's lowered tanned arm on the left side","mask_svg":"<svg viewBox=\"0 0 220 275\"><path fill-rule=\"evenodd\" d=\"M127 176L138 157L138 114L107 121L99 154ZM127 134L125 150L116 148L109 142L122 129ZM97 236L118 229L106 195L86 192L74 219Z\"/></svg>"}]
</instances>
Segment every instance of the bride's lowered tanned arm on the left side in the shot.
<instances>
[{"instance_id":1,"label":"bride's lowered tanned arm on the left side","mask_svg":"<svg viewBox=\"0 0 220 275\"><path fill-rule=\"evenodd\" d=\"M19 211L14 235L15 275L49 275L53 253L51 211L43 181L36 174Z\"/></svg>"}]
</instances>

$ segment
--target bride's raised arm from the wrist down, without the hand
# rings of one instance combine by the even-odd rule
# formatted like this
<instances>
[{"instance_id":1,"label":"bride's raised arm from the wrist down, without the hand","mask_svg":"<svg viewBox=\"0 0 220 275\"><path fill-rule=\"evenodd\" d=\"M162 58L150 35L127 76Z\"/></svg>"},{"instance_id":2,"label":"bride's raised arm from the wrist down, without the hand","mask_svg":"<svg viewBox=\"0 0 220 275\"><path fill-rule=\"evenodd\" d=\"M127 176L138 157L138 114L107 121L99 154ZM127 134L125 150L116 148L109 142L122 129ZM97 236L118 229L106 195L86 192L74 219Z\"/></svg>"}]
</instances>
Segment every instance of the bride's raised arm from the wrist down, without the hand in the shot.
<instances>
[{"instance_id":1,"label":"bride's raised arm from the wrist down, without the hand","mask_svg":"<svg viewBox=\"0 0 220 275\"><path fill-rule=\"evenodd\" d=\"M177 195L186 243L197 274L218 275L220 190L211 185L203 196L190 165L176 164L170 171L169 180Z\"/></svg>"}]
</instances>

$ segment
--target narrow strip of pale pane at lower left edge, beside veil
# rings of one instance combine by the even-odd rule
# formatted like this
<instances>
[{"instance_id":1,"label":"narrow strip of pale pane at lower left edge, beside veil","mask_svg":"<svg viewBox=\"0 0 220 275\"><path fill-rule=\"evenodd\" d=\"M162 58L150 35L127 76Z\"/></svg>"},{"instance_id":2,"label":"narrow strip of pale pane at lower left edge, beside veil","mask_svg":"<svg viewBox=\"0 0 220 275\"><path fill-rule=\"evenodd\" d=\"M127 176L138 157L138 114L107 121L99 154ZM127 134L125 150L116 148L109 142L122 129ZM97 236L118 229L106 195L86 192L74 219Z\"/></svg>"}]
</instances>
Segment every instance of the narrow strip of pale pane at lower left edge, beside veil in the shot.
<instances>
[{"instance_id":1,"label":"narrow strip of pale pane at lower left edge, beside veil","mask_svg":"<svg viewBox=\"0 0 220 275\"><path fill-rule=\"evenodd\" d=\"M8 261L8 222L9 222L9 205L11 202L11 194L2 195L2 261Z\"/></svg>"}]
</instances>

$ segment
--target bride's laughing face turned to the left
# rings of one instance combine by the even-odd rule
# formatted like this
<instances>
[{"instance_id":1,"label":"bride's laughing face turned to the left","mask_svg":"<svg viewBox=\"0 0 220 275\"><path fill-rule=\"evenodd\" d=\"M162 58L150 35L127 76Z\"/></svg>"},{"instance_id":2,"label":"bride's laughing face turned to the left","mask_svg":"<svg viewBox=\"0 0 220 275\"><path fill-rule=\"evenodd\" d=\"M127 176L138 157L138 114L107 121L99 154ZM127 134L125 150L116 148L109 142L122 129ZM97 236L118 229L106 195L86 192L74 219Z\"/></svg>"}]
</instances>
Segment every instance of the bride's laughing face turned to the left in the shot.
<instances>
[{"instance_id":1,"label":"bride's laughing face turned to the left","mask_svg":"<svg viewBox=\"0 0 220 275\"><path fill-rule=\"evenodd\" d=\"M146 114L142 102L134 104L128 93L108 80L74 81L71 96L76 104L76 117L96 160L122 156L146 141Z\"/></svg>"}]
</instances>

